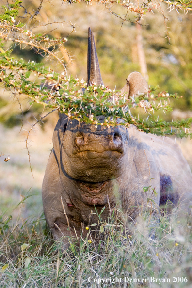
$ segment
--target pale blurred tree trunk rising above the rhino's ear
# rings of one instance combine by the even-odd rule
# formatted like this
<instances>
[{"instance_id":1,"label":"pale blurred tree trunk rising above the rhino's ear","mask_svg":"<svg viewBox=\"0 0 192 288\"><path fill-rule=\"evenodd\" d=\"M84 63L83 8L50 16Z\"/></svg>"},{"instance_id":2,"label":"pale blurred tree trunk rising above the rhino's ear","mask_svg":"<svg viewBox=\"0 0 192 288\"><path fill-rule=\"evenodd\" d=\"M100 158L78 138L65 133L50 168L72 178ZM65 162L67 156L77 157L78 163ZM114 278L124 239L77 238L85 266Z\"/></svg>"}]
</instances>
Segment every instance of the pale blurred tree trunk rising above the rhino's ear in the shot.
<instances>
[{"instance_id":1,"label":"pale blurred tree trunk rising above the rhino's ear","mask_svg":"<svg viewBox=\"0 0 192 288\"><path fill-rule=\"evenodd\" d=\"M138 51L138 57L139 57L139 64L141 69L141 74L144 76L144 78L148 81L149 76L147 72L147 64L146 64L146 58L144 54L144 47L143 47L143 37L142 37L142 27L139 24L136 24L137 29L137 51Z\"/></svg>"}]
</instances>

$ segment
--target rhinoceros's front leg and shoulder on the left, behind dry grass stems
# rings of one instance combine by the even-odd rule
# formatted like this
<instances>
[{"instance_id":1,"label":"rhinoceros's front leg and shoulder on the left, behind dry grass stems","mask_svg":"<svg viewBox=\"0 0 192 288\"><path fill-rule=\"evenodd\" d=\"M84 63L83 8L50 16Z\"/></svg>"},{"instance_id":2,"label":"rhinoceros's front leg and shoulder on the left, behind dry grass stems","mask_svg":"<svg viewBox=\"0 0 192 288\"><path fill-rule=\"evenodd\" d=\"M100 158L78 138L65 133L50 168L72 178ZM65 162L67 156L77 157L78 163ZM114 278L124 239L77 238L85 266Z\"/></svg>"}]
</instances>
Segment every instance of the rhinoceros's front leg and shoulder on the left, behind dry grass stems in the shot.
<instances>
[{"instance_id":1,"label":"rhinoceros's front leg and shoulder on the left, behind dry grass stems","mask_svg":"<svg viewBox=\"0 0 192 288\"><path fill-rule=\"evenodd\" d=\"M72 236L76 239L80 237L81 222L76 208L67 207L67 194L60 180L54 150L49 157L43 180L42 200L46 221L54 240L62 238L64 246L67 247L68 237Z\"/></svg>"}]
</instances>

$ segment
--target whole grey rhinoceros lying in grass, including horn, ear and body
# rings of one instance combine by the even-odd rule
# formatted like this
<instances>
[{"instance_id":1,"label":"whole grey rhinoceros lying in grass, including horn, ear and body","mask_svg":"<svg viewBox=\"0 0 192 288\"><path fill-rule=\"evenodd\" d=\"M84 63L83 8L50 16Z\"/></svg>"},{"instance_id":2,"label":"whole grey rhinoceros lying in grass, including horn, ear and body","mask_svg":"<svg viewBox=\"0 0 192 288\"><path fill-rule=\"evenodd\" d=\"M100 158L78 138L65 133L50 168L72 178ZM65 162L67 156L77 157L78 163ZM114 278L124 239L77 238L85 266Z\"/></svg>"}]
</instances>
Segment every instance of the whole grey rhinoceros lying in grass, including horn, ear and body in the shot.
<instances>
[{"instance_id":1,"label":"whole grey rhinoceros lying in grass, including horn, ear and body","mask_svg":"<svg viewBox=\"0 0 192 288\"><path fill-rule=\"evenodd\" d=\"M103 84L93 33L88 31L87 83ZM146 80L132 72L121 93L144 93ZM104 121L104 117L100 117ZM181 149L167 137L139 132L135 126L109 127L80 123L60 114L53 133L53 150L43 180L43 208L54 239L80 236L81 226L98 223L116 208L130 219L150 197L159 205L189 203L192 173ZM150 195L143 191L151 185ZM153 192L155 189L156 193ZM70 226L70 231L68 229ZM75 230L74 230L75 228Z\"/></svg>"}]
</instances>

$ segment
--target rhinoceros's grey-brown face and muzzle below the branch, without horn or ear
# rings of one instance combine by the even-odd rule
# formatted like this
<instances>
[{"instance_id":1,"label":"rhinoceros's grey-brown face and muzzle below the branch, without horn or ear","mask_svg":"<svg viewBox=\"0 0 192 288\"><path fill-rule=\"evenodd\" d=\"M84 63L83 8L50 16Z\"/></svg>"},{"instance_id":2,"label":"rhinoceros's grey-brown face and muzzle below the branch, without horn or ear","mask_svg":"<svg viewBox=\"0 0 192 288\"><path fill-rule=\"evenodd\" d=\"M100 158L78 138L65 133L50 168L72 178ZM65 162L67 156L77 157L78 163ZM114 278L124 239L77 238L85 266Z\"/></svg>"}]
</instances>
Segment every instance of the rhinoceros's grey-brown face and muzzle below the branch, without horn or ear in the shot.
<instances>
[{"instance_id":1,"label":"rhinoceros's grey-brown face and muzzle below the branch, without horn or ear","mask_svg":"<svg viewBox=\"0 0 192 288\"><path fill-rule=\"evenodd\" d=\"M123 126L96 128L77 120L68 121L64 116L60 117L53 137L54 151L63 172L88 182L119 177L126 167L127 145L128 132Z\"/></svg>"}]
</instances>

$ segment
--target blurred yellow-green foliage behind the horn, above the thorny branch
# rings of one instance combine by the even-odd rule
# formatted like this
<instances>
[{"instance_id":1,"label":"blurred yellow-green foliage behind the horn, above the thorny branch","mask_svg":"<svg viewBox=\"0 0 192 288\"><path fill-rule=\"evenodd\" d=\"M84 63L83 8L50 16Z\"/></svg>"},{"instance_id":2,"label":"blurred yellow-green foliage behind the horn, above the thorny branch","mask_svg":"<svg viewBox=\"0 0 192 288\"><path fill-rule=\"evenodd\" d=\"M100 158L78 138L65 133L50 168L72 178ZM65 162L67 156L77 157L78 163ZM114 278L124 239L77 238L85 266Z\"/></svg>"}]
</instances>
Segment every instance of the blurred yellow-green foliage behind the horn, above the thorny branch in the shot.
<instances>
[{"instance_id":1,"label":"blurred yellow-green foliage behind the horn, above the thorny branch","mask_svg":"<svg viewBox=\"0 0 192 288\"><path fill-rule=\"evenodd\" d=\"M6 4L6 1L2 2ZM119 3L121 4L122 1ZM151 3L153 2L148 5L154 7ZM64 2L64 5L61 6L60 0L54 0L52 3L24 0L16 22L20 21L20 25L25 24L26 29L32 32L48 35L49 39L67 37L68 42L65 43L65 48L70 55L75 56L70 56L62 49L59 50L59 54L64 57L68 75L72 73L84 80L87 64L87 27L90 26L95 35L103 81L111 89L115 87L121 89L125 85L129 73L141 71L136 25L126 21L122 25L121 19L102 12L103 7L100 7L102 5L99 6L95 3L92 6L86 5L84 1L71 5ZM116 4L115 13L118 15L120 15L120 8ZM147 17L140 20L149 75L148 82L153 86L159 85L161 91L182 95L182 99L179 98L171 103L172 107L189 110L192 109L192 16L181 10L178 14L176 9L169 13L169 10L166 10L166 4L164 6L162 4L162 8L164 16L169 19L166 21L169 28L166 29L164 17L155 8L153 9L154 14L147 13ZM41 13L37 13L38 11ZM129 17L131 21L134 20L132 11L129 12ZM55 61L46 59L43 50L39 50L39 54L35 48L25 44L15 43L13 45L11 41L7 41L6 48L13 49L14 58L22 57L25 61L42 63L47 67L50 66L56 72L62 72L62 68ZM48 49L51 50L51 48ZM32 76L30 77L31 80L34 79ZM6 97L0 97L1 107L6 103L9 104ZM22 103L22 105L27 105L23 106L23 112L19 109L17 112L9 109L6 115L0 113L0 121L12 127L21 123L22 115L29 116L29 113L32 113L36 117L40 112L40 109L35 110L37 107L32 110L34 104L30 109L29 103ZM166 119L170 121L171 115L166 115Z\"/></svg>"}]
</instances>

